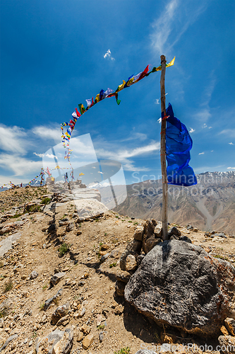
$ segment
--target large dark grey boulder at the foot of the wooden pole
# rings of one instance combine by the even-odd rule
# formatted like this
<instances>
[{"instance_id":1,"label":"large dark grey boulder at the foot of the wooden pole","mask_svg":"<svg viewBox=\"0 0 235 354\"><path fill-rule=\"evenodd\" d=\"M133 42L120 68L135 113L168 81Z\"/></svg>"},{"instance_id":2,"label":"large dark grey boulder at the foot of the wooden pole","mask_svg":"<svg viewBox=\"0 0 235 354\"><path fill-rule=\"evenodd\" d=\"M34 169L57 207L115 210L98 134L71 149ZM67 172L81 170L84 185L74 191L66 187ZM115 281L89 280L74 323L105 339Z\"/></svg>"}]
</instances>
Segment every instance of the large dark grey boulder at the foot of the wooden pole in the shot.
<instances>
[{"instance_id":1,"label":"large dark grey boulder at the foot of the wooden pole","mask_svg":"<svg viewBox=\"0 0 235 354\"><path fill-rule=\"evenodd\" d=\"M157 324L201 336L219 334L234 317L234 267L200 246L164 241L147 253L125 287L125 299Z\"/></svg>"}]
</instances>

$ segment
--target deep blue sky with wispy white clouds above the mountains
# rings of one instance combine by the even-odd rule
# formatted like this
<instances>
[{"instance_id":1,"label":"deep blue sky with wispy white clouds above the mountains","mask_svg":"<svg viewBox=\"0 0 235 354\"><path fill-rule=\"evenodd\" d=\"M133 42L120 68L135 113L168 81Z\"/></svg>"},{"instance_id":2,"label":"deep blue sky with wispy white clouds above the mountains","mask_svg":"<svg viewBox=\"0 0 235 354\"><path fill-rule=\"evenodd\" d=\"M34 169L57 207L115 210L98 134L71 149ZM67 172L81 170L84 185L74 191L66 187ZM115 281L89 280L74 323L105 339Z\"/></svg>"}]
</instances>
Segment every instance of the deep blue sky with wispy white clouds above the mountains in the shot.
<instances>
[{"instance_id":1,"label":"deep blue sky with wispy white clouds above the mountains","mask_svg":"<svg viewBox=\"0 0 235 354\"><path fill-rule=\"evenodd\" d=\"M166 98L191 132L195 173L235 170L234 0L0 6L0 185L34 178L78 103L158 66L162 54L168 62L176 57ZM99 161L121 162L127 183L161 173L159 79L156 72L124 89L120 105L115 98L98 103L73 130L73 137L90 134Z\"/></svg>"}]
</instances>

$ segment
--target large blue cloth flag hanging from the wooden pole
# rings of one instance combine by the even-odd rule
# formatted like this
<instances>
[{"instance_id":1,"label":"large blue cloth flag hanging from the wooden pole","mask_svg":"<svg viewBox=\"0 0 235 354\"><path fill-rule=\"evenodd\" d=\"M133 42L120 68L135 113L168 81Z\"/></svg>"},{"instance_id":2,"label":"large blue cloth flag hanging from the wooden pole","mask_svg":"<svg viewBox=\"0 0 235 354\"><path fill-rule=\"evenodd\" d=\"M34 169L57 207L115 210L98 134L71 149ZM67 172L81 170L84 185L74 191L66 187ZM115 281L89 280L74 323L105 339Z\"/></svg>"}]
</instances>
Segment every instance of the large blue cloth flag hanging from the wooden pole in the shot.
<instances>
[{"instance_id":1,"label":"large blue cloth flag hanging from the wooden pole","mask_svg":"<svg viewBox=\"0 0 235 354\"><path fill-rule=\"evenodd\" d=\"M169 115L166 130L167 181L175 185L197 184L194 171L188 165L193 140L186 126L174 117L171 103L166 110L166 115Z\"/></svg>"}]
</instances>

